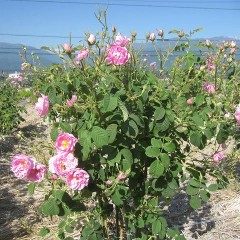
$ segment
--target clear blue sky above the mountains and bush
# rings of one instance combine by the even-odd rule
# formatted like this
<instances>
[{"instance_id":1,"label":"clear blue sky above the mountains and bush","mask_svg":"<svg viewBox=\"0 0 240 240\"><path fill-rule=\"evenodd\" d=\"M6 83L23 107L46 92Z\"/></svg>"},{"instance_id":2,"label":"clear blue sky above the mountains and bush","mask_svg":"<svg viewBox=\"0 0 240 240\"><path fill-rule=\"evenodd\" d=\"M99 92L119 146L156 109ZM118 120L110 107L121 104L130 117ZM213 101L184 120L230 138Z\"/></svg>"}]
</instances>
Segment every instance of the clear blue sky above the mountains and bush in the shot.
<instances>
[{"instance_id":1,"label":"clear blue sky above the mountains and bush","mask_svg":"<svg viewBox=\"0 0 240 240\"><path fill-rule=\"evenodd\" d=\"M35 1L35 0L32 0ZM34 38L4 36L3 34L30 34L30 35L58 35L84 36L84 33L95 33L101 26L94 16L98 9L106 6L98 4L70 4L55 2L31 2L1 0L0 14L0 42L22 43L34 47L53 46L67 42L61 38ZM189 32L202 27L203 30L196 37L211 38L227 36L240 38L240 0L71 0L64 2L107 3L122 4L125 6L108 6L108 25L116 26L117 31L130 36L132 31L138 33L137 38L145 38L148 32L163 29L168 32L172 29ZM172 6L167 7L140 7L128 5ZM202 7L228 8L235 10L213 9L184 9L174 7ZM171 37L167 35L166 37ZM77 45L80 39L74 39Z\"/></svg>"}]
</instances>

